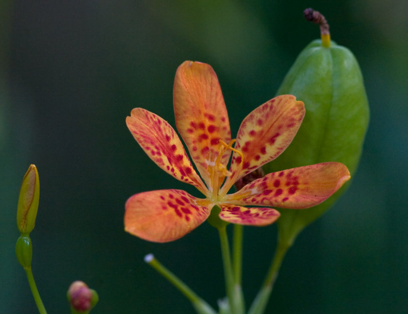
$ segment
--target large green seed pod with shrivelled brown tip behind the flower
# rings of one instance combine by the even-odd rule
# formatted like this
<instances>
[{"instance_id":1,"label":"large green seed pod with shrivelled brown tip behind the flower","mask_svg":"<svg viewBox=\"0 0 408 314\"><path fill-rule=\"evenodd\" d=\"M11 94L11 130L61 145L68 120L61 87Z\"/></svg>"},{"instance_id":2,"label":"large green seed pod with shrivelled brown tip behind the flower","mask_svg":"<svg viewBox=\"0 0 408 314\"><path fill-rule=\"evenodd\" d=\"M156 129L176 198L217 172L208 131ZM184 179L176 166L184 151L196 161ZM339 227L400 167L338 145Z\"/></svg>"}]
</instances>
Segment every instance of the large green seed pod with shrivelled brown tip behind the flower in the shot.
<instances>
[{"instance_id":1,"label":"large green seed pod with shrivelled brown tip behind the flower","mask_svg":"<svg viewBox=\"0 0 408 314\"><path fill-rule=\"evenodd\" d=\"M369 121L368 100L358 62L349 49L330 42L328 24L317 11L305 17L320 24L321 40L297 57L277 95L292 94L304 102L303 123L293 142L266 173L322 162L341 162L355 172ZM347 186L347 184L345 185ZM282 210L279 236L292 244L298 232L320 217L345 191L307 210Z\"/></svg>"}]
</instances>

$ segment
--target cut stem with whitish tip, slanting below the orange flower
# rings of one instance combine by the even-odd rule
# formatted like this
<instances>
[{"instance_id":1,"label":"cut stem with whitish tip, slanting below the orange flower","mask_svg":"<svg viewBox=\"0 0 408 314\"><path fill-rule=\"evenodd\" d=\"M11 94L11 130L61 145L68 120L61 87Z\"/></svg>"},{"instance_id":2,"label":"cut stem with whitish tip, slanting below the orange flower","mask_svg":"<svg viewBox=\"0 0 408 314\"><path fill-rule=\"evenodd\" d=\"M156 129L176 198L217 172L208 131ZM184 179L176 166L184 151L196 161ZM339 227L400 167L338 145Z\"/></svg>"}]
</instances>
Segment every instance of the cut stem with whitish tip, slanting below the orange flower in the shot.
<instances>
[{"instance_id":1,"label":"cut stem with whitish tip, slanting below the orange flower","mask_svg":"<svg viewBox=\"0 0 408 314\"><path fill-rule=\"evenodd\" d=\"M198 297L189 286L160 264L153 254L147 254L144 261L179 289L190 300L198 314L216 314L216 311L206 301Z\"/></svg>"}]
</instances>

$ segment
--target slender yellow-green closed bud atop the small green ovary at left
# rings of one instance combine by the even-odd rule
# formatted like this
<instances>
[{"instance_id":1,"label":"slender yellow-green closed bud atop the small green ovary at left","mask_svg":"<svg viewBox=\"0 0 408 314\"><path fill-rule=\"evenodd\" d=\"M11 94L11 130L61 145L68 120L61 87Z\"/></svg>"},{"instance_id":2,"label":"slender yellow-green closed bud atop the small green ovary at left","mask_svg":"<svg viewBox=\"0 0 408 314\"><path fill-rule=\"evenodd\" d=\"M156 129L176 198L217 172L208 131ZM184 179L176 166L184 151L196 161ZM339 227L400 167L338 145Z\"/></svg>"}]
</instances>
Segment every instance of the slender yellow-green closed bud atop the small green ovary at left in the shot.
<instances>
[{"instance_id":1,"label":"slender yellow-green closed bud atop the small green ovary at left","mask_svg":"<svg viewBox=\"0 0 408 314\"><path fill-rule=\"evenodd\" d=\"M22 179L17 205L17 228L23 235L28 235L34 229L39 198L38 171L35 165L30 165Z\"/></svg>"}]
</instances>

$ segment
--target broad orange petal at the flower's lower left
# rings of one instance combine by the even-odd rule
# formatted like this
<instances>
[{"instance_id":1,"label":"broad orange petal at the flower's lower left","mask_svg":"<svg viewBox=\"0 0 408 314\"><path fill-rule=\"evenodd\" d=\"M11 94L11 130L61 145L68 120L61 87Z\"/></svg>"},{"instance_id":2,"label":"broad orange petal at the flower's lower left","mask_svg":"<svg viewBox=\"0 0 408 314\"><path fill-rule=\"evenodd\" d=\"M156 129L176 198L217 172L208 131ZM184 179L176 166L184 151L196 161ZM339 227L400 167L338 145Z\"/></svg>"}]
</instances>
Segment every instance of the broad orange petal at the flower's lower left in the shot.
<instances>
[{"instance_id":1,"label":"broad orange petal at the flower's lower left","mask_svg":"<svg viewBox=\"0 0 408 314\"><path fill-rule=\"evenodd\" d=\"M147 241L177 240L208 218L207 203L182 190L135 194L125 204L124 229Z\"/></svg>"}]
</instances>

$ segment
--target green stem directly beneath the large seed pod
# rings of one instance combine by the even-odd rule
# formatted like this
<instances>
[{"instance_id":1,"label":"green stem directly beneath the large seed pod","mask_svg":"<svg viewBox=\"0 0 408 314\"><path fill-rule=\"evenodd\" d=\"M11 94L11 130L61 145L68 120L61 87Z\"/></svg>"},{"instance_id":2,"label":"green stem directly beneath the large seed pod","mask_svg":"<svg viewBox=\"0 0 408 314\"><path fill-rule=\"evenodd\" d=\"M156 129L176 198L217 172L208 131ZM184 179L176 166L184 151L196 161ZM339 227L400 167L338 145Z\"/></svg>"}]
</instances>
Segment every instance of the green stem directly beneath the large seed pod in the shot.
<instances>
[{"instance_id":1,"label":"green stem directly beneath the large seed pod","mask_svg":"<svg viewBox=\"0 0 408 314\"><path fill-rule=\"evenodd\" d=\"M263 314L268 304L269 297L272 293L273 284L275 283L276 277L278 275L279 269L281 268L282 261L285 257L286 252L290 248L290 244L286 241L278 240L277 247L275 250L275 255L273 256L271 266L269 268L268 274L266 275L265 281L258 292L257 297L253 301L248 314Z\"/></svg>"}]
</instances>

